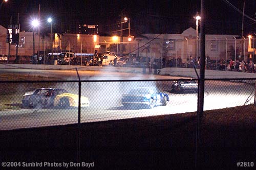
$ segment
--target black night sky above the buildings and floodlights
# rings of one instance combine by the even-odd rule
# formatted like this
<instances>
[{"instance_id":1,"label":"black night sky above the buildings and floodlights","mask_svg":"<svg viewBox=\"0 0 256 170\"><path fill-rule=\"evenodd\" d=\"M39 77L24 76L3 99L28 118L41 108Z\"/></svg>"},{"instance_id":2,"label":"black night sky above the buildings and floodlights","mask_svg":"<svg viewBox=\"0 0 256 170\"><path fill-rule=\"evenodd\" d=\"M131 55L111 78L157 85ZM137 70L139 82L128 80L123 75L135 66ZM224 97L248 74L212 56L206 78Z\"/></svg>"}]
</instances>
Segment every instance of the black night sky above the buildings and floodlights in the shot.
<instances>
[{"instance_id":1,"label":"black night sky above the buildings and floodlights","mask_svg":"<svg viewBox=\"0 0 256 170\"><path fill-rule=\"evenodd\" d=\"M243 11L243 1L229 0ZM206 34L241 34L242 14L228 6L224 1L205 1ZM7 27L12 22L19 23L21 30L31 30L30 19L37 16L40 4L42 26L49 31L46 19L53 16L54 32L77 33L79 25L99 25L99 34L111 35L111 31L120 29L121 12L131 18L131 34L143 33L182 33L189 27L195 28L193 16L200 12L200 1L14 1L8 0L0 9L0 24ZM246 1L245 14L256 18L256 2ZM45 20L44 20L45 19ZM244 32L256 32L256 23L244 18ZM127 27L127 26L124 26ZM125 34L125 33L124 33Z\"/></svg>"}]
</instances>

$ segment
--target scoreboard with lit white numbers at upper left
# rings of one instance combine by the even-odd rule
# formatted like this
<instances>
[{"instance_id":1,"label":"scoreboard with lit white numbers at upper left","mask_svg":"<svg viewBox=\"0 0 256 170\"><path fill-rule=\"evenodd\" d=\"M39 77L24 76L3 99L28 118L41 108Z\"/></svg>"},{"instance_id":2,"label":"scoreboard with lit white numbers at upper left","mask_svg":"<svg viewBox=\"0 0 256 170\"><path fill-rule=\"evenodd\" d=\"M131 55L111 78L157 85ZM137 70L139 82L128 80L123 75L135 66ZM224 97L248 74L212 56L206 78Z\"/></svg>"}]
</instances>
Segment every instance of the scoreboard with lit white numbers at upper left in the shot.
<instances>
[{"instance_id":1,"label":"scoreboard with lit white numbers at upper left","mask_svg":"<svg viewBox=\"0 0 256 170\"><path fill-rule=\"evenodd\" d=\"M19 25L8 25L6 42L17 44L19 41Z\"/></svg>"}]
</instances>

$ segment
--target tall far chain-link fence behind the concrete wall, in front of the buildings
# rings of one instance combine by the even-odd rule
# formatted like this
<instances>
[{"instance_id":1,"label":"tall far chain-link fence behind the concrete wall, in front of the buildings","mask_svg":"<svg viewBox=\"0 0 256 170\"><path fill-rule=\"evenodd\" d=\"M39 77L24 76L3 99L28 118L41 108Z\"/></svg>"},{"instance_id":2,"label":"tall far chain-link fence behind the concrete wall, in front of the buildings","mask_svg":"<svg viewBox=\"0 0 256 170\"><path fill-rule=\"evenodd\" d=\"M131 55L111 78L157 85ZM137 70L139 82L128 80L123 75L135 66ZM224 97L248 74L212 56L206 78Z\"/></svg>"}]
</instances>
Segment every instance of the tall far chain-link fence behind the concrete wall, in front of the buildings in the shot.
<instances>
[{"instance_id":1,"label":"tall far chain-link fence behind the concrete wall, in front of the buildings","mask_svg":"<svg viewBox=\"0 0 256 170\"><path fill-rule=\"evenodd\" d=\"M10 52L8 45L4 46L2 49L4 55L0 56L0 63L54 64L57 56L49 56L48 54L72 52L97 53L99 57L104 54L115 53L118 57L123 56L125 58L117 61L118 66L193 68L195 65L199 67L199 40L193 37L184 39L183 36L174 37L171 35L146 35L146 37L122 43L97 42L99 43L97 48L91 41L78 41L76 39L71 41L68 37L65 39L65 36L62 37L61 42L56 41L54 44L47 40L44 43L40 41L40 47L38 41L33 43L27 40L25 43L19 44L17 57L15 45L10 46ZM232 35L208 35L205 42L206 69L253 72L254 64L256 64L254 41L254 38L238 39ZM38 51L40 51L40 55L37 55ZM37 57L33 58L35 54ZM41 58L39 58L40 56ZM88 58L88 62L91 59ZM231 59L234 63L229 68ZM253 63L252 70L248 68L249 61ZM85 63L78 63L78 65L85 65Z\"/></svg>"}]
</instances>

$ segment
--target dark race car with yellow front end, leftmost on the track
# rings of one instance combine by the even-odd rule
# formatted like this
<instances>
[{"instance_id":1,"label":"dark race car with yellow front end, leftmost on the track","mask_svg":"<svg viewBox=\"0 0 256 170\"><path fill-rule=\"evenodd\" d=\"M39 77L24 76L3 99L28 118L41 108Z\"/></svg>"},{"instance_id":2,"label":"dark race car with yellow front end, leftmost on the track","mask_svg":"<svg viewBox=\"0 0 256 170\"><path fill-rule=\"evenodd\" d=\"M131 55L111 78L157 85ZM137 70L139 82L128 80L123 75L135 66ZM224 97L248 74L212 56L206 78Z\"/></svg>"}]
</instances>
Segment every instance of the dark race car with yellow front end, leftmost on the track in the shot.
<instances>
[{"instance_id":1,"label":"dark race car with yellow front end, leftmost on the track","mask_svg":"<svg viewBox=\"0 0 256 170\"><path fill-rule=\"evenodd\" d=\"M23 95L24 108L78 107L78 95L68 93L65 89L39 88ZM81 96L81 107L89 107L87 97Z\"/></svg>"}]
</instances>

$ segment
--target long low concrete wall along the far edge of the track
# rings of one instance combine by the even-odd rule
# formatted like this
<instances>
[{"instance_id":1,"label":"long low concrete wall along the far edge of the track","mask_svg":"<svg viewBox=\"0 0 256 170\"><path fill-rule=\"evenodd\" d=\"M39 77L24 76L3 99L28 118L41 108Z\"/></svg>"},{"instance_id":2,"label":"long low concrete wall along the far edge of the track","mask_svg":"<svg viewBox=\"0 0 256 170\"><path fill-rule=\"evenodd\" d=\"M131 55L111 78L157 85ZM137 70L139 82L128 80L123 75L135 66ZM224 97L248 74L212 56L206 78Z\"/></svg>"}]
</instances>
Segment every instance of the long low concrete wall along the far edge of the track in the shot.
<instances>
[{"instance_id":1,"label":"long low concrete wall along the far edge of the track","mask_svg":"<svg viewBox=\"0 0 256 170\"><path fill-rule=\"evenodd\" d=\"M0 68L9 69L47 69L47 70L95 70L95 71L114 71L114 72L143 72L142 68L130 68L130 67L113 67L113 66L78 66L78 65L36 65L36 64L0 64ZM199 74L199 69L197 69ZM155 72L152 69L152 74ZM157 71L159 72L159 70ZM146 68L146 74L148 74L148 68ZM197 75L194 68L162 68L160 69L160 75L166 76L180 76L197 79ZM249 72L236 72L236 71L218 71L218 70L205 70L206 79L242 79L242 78L254 78L256 74Z\"/></svg>"}]
</instances>

